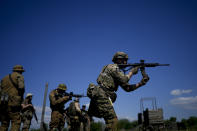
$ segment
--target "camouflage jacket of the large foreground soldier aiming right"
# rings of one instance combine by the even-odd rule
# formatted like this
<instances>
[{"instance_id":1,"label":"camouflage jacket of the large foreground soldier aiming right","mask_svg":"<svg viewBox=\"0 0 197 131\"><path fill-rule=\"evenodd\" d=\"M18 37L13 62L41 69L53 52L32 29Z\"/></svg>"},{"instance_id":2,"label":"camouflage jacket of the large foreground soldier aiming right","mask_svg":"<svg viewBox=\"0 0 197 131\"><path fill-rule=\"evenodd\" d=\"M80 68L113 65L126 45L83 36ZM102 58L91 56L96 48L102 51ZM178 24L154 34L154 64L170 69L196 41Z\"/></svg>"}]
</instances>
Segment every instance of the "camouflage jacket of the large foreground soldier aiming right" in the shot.
<instances>
[{"instance_id":1,"label":"camouflage jacket of the large foreground soldier aiming right","mask_svg":"<svg viewBox=\"0 0 197 131\"><path fill-rule=\"evenodd\" d=\"M120 70L117 64L104 66L97 78L97 83L100 86L105 87L112 92L116 92L118 86L121 86L127 92L131 91L132 89L128 82L129 78Z\"/></svg>"}]
</instances>

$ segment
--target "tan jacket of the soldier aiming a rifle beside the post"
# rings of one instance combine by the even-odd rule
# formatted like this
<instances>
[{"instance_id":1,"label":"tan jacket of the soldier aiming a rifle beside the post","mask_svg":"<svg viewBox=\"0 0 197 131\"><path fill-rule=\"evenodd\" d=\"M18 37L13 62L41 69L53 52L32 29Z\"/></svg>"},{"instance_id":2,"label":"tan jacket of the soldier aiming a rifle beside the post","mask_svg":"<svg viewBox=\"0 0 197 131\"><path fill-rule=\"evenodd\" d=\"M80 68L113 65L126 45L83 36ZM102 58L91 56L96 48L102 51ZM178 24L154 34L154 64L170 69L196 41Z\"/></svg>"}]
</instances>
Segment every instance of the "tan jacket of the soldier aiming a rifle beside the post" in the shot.
<instances>
[{"instance_id":1,"label":"tan jacket of the soldier aiming a rifle beside the post","mask_svg":"<svg viewBox=\"0 0 197 131\"><path fill-rule=\"evenodd\" d=\"M55 110L55 111L64 112L64 104L69 101L69 96L67 99L65 99L55 89L55 90L52 90L51 93L49 94L49 100L50 100L50 107L52 111Z\"/></svg>"}]
</instances>

